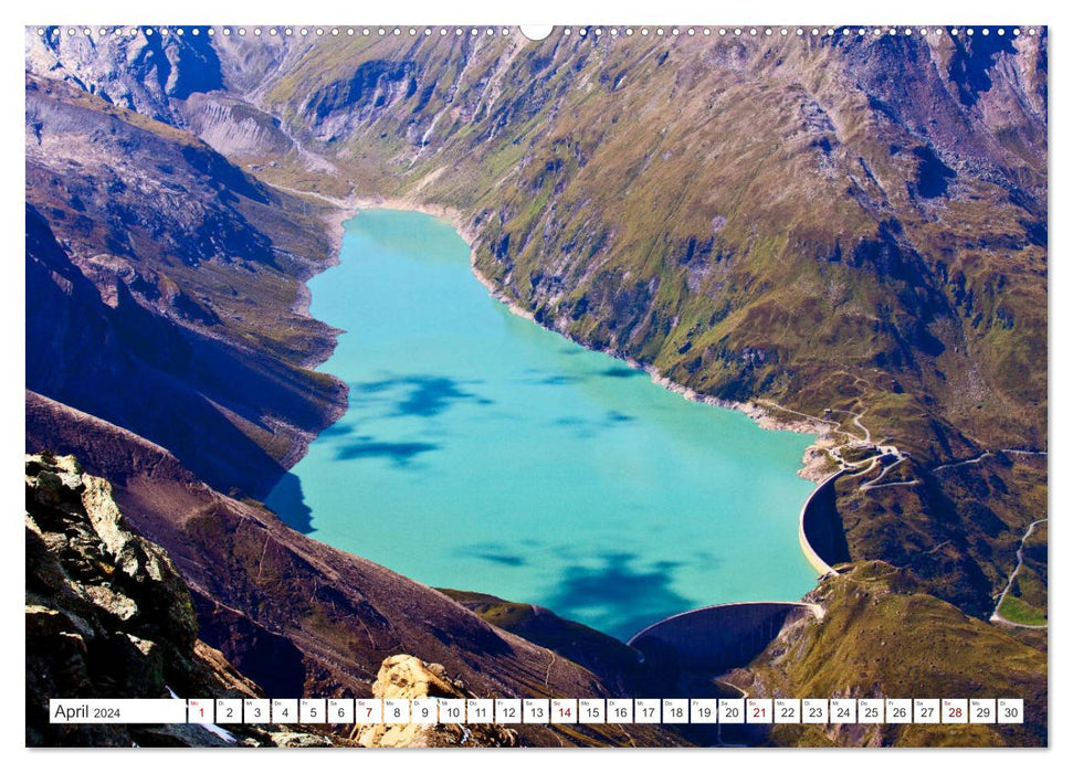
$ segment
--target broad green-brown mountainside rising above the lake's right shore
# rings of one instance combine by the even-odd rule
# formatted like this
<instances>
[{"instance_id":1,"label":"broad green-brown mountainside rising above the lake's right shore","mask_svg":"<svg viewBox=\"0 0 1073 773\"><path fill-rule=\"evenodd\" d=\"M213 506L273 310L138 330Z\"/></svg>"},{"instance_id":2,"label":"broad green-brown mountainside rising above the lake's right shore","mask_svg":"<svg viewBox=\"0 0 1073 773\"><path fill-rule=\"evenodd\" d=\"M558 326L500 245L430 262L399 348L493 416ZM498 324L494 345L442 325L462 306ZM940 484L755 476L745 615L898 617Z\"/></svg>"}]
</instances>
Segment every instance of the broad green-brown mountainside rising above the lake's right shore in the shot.
<instances>
[{"instance_id":1,"label":"broad green-brown mountainside rising above the lake's right shore","mask_svg":"<svg viewBox=\"0 0 1073 773\"><path fill-rule=\"evenodd\" d=\"M1030 70L1035 45L1000 55ZM482 271L591 346L707 394L866 409L936 457L1041 446L1039 94L992 85L1014 126L991 125L940 93L955 47L355 39L265 100L357 192L461 210ZM890 67L938 129L883 102Z\"/></svg>"}]
</instances>

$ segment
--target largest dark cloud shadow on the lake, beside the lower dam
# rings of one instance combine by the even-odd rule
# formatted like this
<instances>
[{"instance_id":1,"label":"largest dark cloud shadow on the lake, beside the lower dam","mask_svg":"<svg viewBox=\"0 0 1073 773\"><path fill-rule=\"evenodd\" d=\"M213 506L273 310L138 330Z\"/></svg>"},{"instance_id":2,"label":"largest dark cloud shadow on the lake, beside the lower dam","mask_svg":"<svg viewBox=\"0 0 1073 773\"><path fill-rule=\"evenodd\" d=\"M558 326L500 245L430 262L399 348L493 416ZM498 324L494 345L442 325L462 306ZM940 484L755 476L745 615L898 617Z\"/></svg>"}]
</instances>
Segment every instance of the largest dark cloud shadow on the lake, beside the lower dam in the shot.
<instances>
[{"instance_id":1,"label":"largest dark cloud shadow on the lake, beside the lower dam","mask_svg":"<svg viewBox=\"0 0 1073 773\"><path fill-rule=\"evenodd\" d=\"M678 563L661 561L651 569L638 569L637 559L634 553L613 552L604 553L597 569L570 566L539 603L623 642L656 621L698 606L671 589Z\"/></svg>"}]
</instances>

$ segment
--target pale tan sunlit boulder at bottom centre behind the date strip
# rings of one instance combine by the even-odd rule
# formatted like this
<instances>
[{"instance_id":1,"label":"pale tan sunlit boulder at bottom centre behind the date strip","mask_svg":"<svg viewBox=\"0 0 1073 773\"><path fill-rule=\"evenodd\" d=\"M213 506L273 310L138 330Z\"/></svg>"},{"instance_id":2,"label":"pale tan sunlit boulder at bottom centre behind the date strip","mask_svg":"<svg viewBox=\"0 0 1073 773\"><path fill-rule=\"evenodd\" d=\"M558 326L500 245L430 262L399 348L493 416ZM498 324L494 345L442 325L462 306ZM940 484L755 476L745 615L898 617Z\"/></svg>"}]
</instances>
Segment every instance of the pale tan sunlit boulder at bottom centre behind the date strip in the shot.
<instances>
[{"instance_id":1,"label":"pale tan sunlit boulder at bottom centre behind the date strip","mask_svg":"<svg viewBox=\"0 0 1073 773\"><path fill-rule=\"evenodd\" d=\"M376 698L473 698L438 663L412 655L383 660L372 684ZM517 735L497 724L358 724L350 734L361 746L516 746Z\"/></svg>"}]
</instances>

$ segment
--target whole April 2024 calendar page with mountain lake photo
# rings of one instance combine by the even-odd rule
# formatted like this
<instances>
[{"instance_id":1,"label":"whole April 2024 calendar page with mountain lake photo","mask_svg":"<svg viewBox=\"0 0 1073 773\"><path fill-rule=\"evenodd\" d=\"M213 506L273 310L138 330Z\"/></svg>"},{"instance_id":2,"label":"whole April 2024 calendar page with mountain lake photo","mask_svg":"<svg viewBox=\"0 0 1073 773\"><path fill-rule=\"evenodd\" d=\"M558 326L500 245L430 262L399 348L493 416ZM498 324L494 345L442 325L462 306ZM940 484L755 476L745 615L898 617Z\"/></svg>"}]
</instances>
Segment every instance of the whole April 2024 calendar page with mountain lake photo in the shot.
<instances>
[{"instance_id":1,"label":"whole April 2024 calendar page with mountain lake photo","mask_svg":"<svg viewBox=\"0 0 1073 773\"><path fill-rule=\"evenodd\" d=\"M27 746L1049 744L1046 19L717 11L35 9Z\"/></svg>"}]
</instances>

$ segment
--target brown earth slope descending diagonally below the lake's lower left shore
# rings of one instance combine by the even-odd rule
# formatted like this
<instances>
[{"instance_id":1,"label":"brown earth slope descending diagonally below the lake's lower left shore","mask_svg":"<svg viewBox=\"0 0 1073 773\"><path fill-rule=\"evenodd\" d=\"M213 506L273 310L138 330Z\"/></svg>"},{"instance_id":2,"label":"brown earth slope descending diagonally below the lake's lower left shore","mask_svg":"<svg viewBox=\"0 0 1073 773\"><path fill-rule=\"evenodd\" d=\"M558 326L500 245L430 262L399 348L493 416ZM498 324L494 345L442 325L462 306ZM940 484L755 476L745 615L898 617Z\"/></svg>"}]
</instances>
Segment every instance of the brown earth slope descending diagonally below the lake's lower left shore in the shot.
<instances>
[{"instance_id":1,"label":"brown earth slope descending diagonally below the lake's lower left shore","mask_svg":"<svg viewBox=\"0 0 1073 773\"><path fill-rule=\"evenodd\" d=\"M577 664L496 628L442 593L225 497L167 451L27 393L28 444L112 481L133 528L164 546L190 587L201 637L273 697L369 696L383 659L442 664L482 697L609 696ZM399 539L406 539L404 527ZM678 745L661 728L519 731L538 745Z\"/></svg>"}]
</instances>

